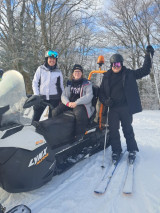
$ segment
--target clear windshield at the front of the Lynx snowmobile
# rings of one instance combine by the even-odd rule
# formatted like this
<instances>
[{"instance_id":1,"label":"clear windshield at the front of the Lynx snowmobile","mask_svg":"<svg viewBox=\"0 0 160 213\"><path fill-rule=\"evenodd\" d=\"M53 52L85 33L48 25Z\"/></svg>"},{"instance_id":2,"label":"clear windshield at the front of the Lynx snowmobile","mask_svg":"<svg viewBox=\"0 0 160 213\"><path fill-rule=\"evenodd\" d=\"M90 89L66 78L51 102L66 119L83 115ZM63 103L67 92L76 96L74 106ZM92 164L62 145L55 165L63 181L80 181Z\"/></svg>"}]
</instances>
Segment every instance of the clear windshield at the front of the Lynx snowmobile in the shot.
<instances>
[{"instance_id":1,"label":"clear windshield at the front of the Lynx snowmobile","mask_svg":"<svg viewBox=\"0 0 160 213\"><path fill-rule=\"evenodd\" d=\"M23 109L26 99L23 76L15 70L5 72L0 81L0 108L9 106L9 110L0 115L1 127L31 124L33 109Z\"/></svg>"}]
</instances>

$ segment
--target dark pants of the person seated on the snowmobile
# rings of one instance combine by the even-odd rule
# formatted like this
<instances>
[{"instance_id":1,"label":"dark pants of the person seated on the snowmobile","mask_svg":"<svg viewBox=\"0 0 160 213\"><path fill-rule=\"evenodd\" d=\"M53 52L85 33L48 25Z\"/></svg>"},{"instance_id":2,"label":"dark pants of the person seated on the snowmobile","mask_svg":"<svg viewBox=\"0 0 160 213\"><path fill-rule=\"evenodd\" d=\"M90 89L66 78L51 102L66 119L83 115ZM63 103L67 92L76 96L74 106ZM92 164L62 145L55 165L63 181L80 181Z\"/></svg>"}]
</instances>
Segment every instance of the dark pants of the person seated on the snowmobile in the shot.
<instances>
[{"instance_id":1,"label":"dark pants of the person seated on the snowmobile","mask_svg":"<svg viewBox=\"0 0 160 213\"><path fill-rule=\"evenodd\" d=\"M78 105L75 108L70 108L61 103L52 111L52 117L55 117L67 110L72 110L76 118L75 136L84 134L88 125L88 115L85 106Z\"/></svg>"}]
</instances>

